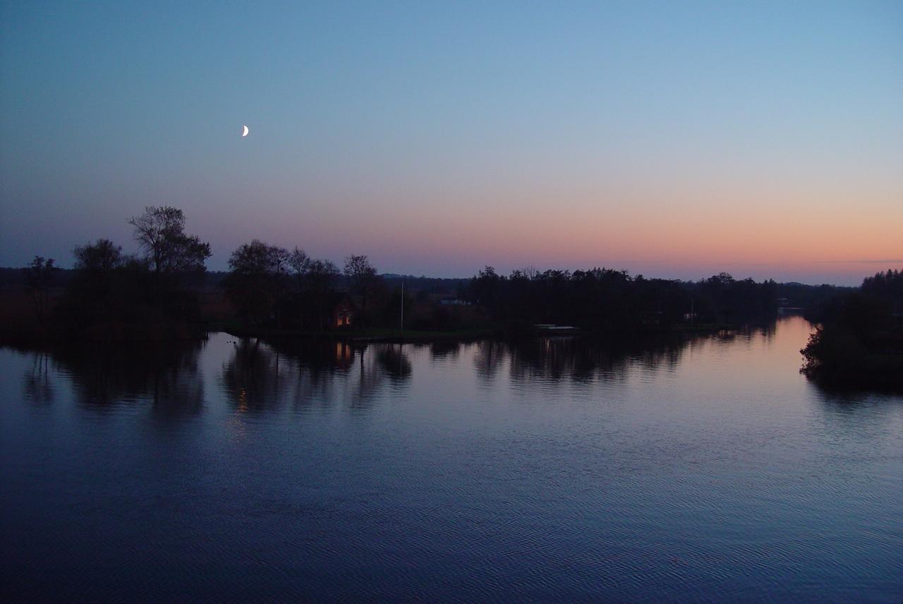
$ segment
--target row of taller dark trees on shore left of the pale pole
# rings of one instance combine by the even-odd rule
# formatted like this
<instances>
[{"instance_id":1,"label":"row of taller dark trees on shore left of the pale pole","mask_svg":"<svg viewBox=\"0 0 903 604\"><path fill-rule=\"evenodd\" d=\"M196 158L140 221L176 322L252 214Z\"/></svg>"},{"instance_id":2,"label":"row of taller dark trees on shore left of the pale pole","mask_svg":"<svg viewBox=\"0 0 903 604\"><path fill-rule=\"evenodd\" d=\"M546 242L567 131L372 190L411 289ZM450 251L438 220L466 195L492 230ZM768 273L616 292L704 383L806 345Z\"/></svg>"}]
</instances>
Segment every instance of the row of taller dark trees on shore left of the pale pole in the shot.
<instances>
[{"instance_id":1,"label":"row of taller dark trees on shore left of the pale pole","mask_svg":"<svg viewBox=\"0 0 903 604\"><path fill-rule=\"evenodd\" d=\"M340 268L254 240L229 257L229 271L209 278L209 243L185 232L185 215L148 207L131 218L137 254L100 238L76 246L74 268L60 283L53 259L36 256L23 271L39 333L78 339L166 339L203 329L199 292L215 283L237 311L239 327L325 330L340 301L346 324L377 326L395 320L401 294L377 274L368 256L352 255ZM51 293L63 285L59 299ZM354 301L351 301L351 296ZM55 302L55 303L51 303ZM388 317L391 304L392 318Z\"/></svg>"}]
</instances>

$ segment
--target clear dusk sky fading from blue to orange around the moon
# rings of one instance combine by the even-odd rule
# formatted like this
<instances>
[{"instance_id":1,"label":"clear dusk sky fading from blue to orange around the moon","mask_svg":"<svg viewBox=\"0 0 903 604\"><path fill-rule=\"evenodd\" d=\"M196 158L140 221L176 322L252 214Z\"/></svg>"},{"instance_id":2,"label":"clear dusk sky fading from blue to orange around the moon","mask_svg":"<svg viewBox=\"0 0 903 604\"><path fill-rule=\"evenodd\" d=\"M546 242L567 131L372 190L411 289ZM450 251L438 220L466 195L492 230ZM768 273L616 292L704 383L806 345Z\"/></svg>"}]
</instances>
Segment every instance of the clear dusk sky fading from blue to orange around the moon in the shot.
<instances>
[{"instance_id":1,"label":"clear dusk sky fading from blue to orange around the moon","mask_svg":"<svg viewBox=\"0 0 903 604\"><path fill-rule=\"evenodd\" d=\"M903 2L0 0L0 265L148 205L214 270L861 283L903 267Z\"/></svg>"}]
</instances>

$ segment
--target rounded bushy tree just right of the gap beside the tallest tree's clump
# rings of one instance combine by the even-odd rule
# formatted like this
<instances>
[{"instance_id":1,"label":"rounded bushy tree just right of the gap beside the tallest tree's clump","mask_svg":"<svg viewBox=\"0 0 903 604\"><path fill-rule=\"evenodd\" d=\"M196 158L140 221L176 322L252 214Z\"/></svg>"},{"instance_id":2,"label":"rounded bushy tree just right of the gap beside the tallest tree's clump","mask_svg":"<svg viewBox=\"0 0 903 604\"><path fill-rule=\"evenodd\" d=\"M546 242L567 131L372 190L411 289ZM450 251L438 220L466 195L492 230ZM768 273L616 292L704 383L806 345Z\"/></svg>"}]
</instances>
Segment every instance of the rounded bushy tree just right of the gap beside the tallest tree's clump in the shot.
<instances>
[{"instance_id":1,"label":"rounded bushy tree just right of the gap beside the tallest tree's clump","mask_svg":"<svg viewBox=\"0 0 903 604\"><path fill-rule=\"evenodd\" d=\"M289 253L255 239L232 252L223 282L229 299L247 321L265 321L285 293ZM279 318L276 317L278 322Z\"/></svg>"}]
</instances>

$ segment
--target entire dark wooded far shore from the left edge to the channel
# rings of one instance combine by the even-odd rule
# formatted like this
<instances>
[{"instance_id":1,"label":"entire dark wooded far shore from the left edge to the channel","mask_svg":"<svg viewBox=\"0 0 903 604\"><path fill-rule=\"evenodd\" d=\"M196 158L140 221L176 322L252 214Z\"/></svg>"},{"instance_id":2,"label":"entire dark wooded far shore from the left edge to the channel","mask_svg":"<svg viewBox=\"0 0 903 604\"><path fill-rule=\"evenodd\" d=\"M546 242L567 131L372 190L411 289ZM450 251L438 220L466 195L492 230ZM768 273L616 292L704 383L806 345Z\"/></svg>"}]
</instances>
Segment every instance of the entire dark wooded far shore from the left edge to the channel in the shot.
<instances>
[{"instance_id":1,"label":"entire dark wooded far shore from the left edge to the channel","mask_svg":"<svg viewBox=\"0 0 903 604\"><path fill-rule=\"evenodd\" d=\"M209 243L185 232L181 209L148 207L129 224L137 254L100 238L74 249L74 269L36 256L24 269L0 269L0 284L23 284L41 330L69 337L211 320L252 332L672 330L767 320L780 307L820 307L856 289L727 273L691 282L600 267L506 275L486 266L466 279L379 274L368 256L350 255L340 267L257 239L232 252L228 272L210 273Z\"/></svg>"}]
</instances>

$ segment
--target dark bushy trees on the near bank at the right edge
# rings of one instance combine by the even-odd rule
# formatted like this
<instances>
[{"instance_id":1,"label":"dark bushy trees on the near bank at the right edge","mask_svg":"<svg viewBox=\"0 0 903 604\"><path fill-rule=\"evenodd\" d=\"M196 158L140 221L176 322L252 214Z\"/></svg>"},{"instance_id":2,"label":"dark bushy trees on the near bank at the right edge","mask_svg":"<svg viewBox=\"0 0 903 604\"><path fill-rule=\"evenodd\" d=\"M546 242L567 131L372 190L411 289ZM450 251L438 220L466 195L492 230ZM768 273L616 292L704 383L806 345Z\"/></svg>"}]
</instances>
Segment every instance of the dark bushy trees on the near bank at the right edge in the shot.
<instances>
[{"instance_id":1,"label":"dark bushy trees on the near bank at the right edge","mask_svg":"<svg viewBox=\"0 0 903 604\"><path fill-rule=\"evenodd\" d=\"M809 316L817 323L802 350L806 375L836 385L903 386L903 271L867 277Z\"/></svg>"}]
</instances>

